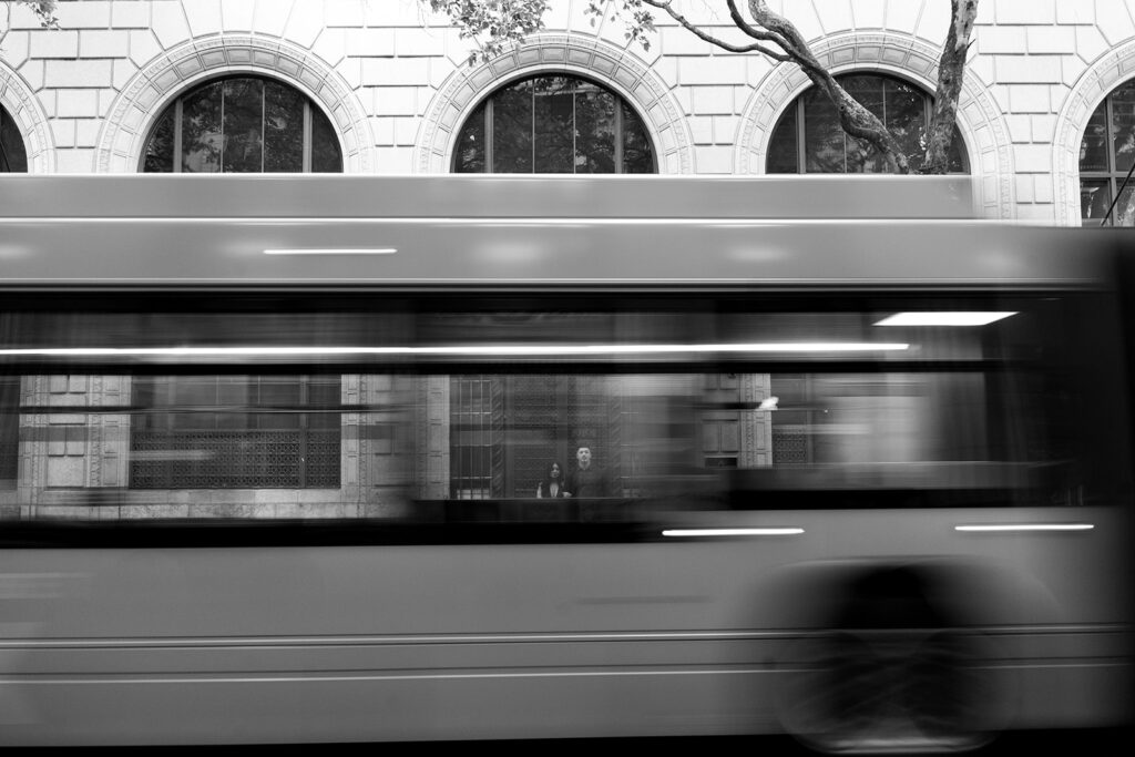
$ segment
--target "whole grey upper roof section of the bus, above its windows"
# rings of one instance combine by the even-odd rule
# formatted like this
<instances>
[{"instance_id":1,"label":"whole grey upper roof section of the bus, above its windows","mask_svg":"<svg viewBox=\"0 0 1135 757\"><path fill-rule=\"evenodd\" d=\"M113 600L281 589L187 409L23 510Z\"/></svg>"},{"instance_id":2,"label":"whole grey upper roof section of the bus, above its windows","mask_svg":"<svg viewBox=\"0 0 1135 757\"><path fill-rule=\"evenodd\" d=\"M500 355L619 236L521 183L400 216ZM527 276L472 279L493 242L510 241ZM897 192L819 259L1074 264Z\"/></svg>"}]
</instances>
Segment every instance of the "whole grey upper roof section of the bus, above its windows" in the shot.
<instances>
[{"instance_id":1,"label":"whole grey upper roof section of the bus, above its windows","mask_svg":"<svg viewBox=\"0 0 1135 757\"><path fill-rule=\"evenodd\" d=\"M961 213L969 188L965 177L0 177L0 287L1109 284L1116 234L974 220Z\"/></svg>"}]
</instances>

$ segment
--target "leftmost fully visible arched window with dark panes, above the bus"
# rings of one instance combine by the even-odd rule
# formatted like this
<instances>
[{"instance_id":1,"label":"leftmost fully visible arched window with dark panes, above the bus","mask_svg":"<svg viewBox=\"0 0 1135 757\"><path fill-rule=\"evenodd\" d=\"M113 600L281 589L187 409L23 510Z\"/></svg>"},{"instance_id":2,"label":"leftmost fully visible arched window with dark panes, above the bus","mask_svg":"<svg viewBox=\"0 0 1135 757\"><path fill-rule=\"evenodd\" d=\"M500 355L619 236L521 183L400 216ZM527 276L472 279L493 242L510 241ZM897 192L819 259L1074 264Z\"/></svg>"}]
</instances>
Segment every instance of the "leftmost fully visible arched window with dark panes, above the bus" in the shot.
<instances>
[{"instance_id":1,"label":"leftmost fully visible arched window with dark panes, above the bus","mask_svg":"<svg viewBox=\"0 0 1135 757\"><path fill-rule=\"evenodd\" d=\"M209 82L158 118L142 158L145 173L339 173L330 121L311 100L270 78Z\"/></svg>"}]
</instances>

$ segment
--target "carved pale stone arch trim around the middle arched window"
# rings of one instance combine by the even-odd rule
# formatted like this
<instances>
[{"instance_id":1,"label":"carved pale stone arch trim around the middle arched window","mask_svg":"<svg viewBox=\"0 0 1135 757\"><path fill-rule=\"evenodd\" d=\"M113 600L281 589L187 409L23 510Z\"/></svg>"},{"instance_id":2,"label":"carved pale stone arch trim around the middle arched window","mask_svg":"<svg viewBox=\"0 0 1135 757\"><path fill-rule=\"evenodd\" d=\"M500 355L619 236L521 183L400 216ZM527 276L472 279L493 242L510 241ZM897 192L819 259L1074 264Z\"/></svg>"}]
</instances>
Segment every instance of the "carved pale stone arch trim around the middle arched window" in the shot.
<instances>
[{"instance_id":1,"label":"carved pale stone arch trim around the middle arched window","mask_svg":"<svg viewBox=\"0 0 1135 757\"><path fill-rule=\"evenodd\" d=\"M487 64L451 74L422 117L414 170L449 173L457 133L477 106L508 82L541 73L587 76L609 87L642 118L659 174L695 171L693 140L670 86L629 50L570 34L541 34Z\"/></svg>"}]
</instances>

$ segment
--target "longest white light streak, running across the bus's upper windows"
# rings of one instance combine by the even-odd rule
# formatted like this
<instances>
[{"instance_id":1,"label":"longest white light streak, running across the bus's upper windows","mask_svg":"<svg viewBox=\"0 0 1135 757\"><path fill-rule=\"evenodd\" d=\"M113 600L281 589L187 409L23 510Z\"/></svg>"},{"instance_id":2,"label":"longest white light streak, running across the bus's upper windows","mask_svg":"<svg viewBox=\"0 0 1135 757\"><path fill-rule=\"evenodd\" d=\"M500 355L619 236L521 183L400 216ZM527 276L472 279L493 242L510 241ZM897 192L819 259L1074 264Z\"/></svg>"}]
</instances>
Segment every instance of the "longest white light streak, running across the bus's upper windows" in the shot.
<instances>
[{"instance_id":1,"label":"longest white light streak, running across the bus's upper windows","mask_svg":"<svg viewBox=\"0 0 1135 757\"><path fill-rule=\"evenodd\" d=\"M757 342L751 344L502 344L420 347L19 347L0 350L5 358L293 358L293 356L491 356L568 358L672 354L857 353L907 350L901 343Z\"/></svg>"}]
</instances>

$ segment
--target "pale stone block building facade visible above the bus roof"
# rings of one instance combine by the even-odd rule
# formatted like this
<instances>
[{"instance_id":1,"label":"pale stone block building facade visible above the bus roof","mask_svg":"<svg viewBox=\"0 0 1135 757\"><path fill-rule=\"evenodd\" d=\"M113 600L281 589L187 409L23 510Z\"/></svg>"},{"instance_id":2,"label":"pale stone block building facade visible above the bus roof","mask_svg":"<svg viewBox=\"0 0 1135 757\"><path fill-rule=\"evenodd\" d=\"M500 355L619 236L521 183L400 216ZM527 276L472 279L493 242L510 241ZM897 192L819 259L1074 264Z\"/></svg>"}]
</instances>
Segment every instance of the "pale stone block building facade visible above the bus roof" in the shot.
<instances>
[{"instance_id":1,"label":"pale stone block building facade visible above the bus roof","mask_svg":"<svg viewBox=\"0 0 1135 757\"><path fill-rule=\"evenodd\" d=\"M469 41L415 0L65 1L59 31L17 6L5 9L0 107L32 173L136 171L174 99L253 74L294 86L327 116L344 171L444 173L457 129L494 90L568 73L638 112L662 174L766 171L776 121L808 87L796 66L717 50L664 16L647 51L617 22L592 25L585 0L553 5L543 34L472 67ZM709 5L684 3L692 19L734 37ZM784 5L834 72L933 91L945 0ZM1133 77L1132 3L983 0L958 127L985 213L1079 222L1082 138Z\"/></svg>"}]
</instances>

